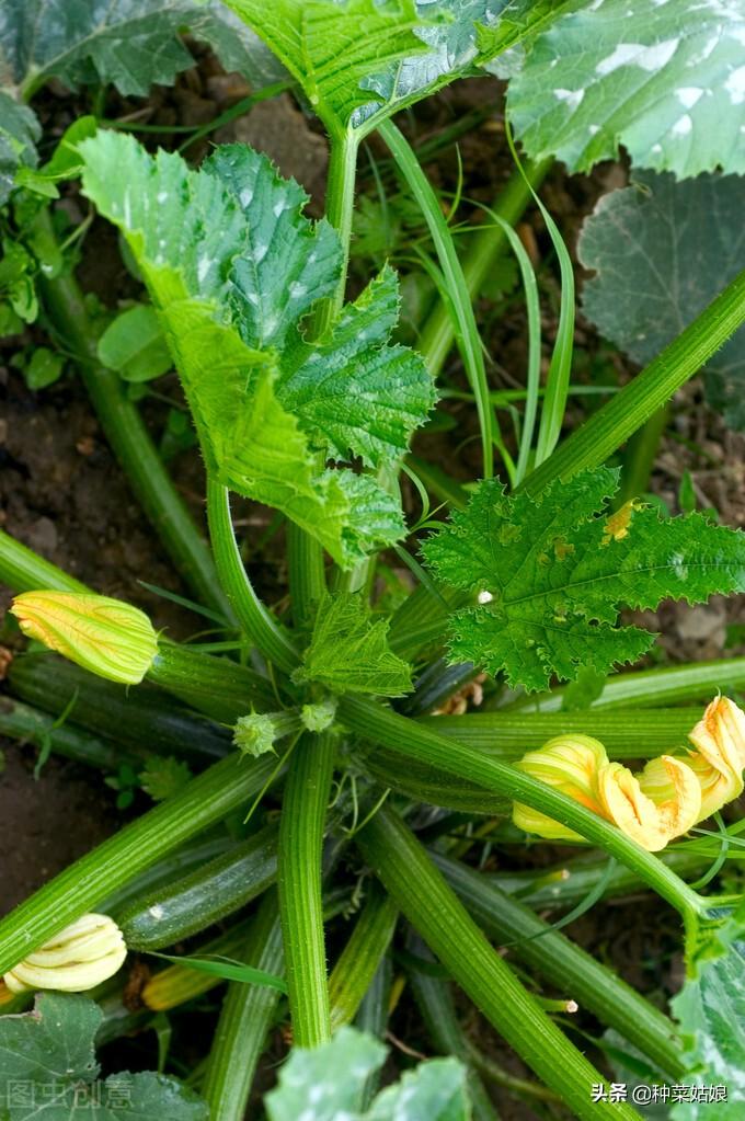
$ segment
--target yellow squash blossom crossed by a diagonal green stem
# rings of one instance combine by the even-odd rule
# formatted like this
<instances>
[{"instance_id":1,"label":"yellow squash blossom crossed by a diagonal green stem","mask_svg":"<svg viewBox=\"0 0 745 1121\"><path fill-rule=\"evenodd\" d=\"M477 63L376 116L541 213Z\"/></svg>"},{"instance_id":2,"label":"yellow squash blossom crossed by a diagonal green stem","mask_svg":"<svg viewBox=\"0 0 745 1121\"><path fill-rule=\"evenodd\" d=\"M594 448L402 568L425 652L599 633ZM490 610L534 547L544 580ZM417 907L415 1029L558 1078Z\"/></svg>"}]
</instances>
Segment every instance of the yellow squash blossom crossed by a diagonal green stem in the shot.
<instances>
[{"instance_id":1,"label":"yellow squash blossom crossed by a diagonal green stem","mask_svg":"<svg viewBox=\"0 0 745 1121\"><path fill-rule=\"evenodd\" d=\"M538 751L529 751L515 766L525 775L540 779L596 814L602 814L596 776L607 761L605 748L592 735L557 735ZM584 840L574 830L522 803L515 802L512 819L519 828L527 833L538 833L548 841Z\"/></svg>"}]
</instances>

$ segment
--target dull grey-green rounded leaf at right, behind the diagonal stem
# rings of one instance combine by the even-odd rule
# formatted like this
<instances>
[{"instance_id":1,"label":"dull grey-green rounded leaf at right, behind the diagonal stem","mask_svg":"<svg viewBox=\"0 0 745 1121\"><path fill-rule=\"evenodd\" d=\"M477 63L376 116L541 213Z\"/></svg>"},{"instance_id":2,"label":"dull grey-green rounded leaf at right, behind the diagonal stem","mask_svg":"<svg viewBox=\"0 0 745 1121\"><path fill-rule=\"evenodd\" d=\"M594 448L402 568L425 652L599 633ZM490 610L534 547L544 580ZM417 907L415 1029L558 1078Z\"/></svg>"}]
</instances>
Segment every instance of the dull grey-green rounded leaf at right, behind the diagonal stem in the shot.
<instances>
[{"instance_id":1,"label":"dull grey-green rounded leaf at right, behind the diagonal stem","mask_svg":"<svg viewBox=\"0 0 745 1121\"><path fill-rule=\"evenodd\" d=\"M583 309L606 339L644 365L688 326L741 270L745 180L640 172L585 222L579 257L595 276ZM745 427L745 330L706 367L709 401Z\"/></svg>"}]
</instances>

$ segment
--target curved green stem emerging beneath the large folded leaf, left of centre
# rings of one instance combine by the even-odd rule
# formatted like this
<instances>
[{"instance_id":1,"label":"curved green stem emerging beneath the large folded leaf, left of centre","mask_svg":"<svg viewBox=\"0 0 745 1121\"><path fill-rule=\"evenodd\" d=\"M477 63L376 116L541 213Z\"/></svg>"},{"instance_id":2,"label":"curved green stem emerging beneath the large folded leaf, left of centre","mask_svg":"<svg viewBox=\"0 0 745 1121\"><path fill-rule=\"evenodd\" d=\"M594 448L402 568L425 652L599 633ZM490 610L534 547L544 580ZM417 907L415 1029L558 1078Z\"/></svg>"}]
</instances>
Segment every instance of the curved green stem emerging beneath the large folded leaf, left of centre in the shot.
<instances>
[{"instance_id":1,"label":"curved green stem emerging beneath the large folded leaf, left of centre","mask_svg":"<svg viewBox=\"0 0 745 1121\"><path fill-rule=\"evenodd\" d=\"M230 492L207 478L207 520L217 575L235 618L263 656L290 673L299 663L297 650L285 629L272 618L254 592L235 541Z\"/></svg>"}]
</instances>

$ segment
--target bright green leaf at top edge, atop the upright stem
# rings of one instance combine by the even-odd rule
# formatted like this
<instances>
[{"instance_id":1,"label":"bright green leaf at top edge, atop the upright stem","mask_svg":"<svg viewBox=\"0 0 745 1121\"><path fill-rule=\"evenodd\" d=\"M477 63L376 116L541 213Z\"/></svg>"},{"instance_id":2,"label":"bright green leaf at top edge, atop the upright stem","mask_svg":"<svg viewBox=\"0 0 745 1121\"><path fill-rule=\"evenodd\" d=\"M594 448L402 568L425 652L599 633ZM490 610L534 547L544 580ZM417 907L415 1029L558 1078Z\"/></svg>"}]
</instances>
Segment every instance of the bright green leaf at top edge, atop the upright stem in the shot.
<instances>
[{"instance_id":1,"label":"bright green leaf at top edge, atop the upright stem","mask_svg":"<svg viewBox=\"0 0 745 1121\"><path fill-rule=\"evenodd\" d=\"M361 133L519 40L525 0L225 0L330 131ZM505 35L483 40L502 13Z\"/></svg>"}]
</instances>

